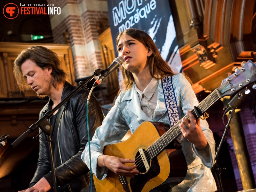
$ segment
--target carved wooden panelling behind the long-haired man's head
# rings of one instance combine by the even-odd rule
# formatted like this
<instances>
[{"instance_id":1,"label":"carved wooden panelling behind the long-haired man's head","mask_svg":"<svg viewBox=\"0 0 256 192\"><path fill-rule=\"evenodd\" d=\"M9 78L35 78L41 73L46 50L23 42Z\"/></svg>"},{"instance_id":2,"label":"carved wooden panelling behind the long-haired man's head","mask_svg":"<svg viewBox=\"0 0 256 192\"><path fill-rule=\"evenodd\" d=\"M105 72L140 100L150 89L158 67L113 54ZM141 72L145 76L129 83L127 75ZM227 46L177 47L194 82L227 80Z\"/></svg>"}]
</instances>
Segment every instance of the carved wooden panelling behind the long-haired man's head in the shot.
<instances>
[{"instance_id":1,"label":"carved wooden panelling behind the long-haired man's head","mask_svg":"<svg viewBox=\"0 0 256 192\"><path fill-rule=\"evenodd\" d=\"M13 43L0 42L0 98L11 97L35 97L33 90L27 90L24 93L17 87L13 76L13 62L18 54L27 47L41 45L55 52L61 60L62 69L68 74L69 81L75 83L75 73L73 67L73 58L68 45L59 44L31 44L31 43Z\"/></svg>"}]
</instances>

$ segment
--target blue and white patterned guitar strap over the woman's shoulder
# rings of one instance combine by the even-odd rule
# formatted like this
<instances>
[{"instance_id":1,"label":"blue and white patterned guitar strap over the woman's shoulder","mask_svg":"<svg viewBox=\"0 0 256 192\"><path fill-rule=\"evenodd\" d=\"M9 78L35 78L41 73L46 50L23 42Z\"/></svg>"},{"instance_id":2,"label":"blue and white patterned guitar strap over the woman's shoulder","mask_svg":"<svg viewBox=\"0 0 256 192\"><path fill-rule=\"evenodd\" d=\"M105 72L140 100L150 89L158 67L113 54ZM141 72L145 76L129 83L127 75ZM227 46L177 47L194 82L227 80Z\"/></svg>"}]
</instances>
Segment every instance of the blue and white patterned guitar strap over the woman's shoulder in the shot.
<instances>
[{"instance_id":1,"label":"blue and white patterned guitar strap over the woman's shoulder","mask_svg":"<svg viewBox=\"0 0 256 192\"><path fill-rule=\"evenodd\" d=\"M169 120L171 123L171 127L178 123L180 120L179 118L179 111L177 107L177 101L175 98L175 93L173 90L173 85L172 85L172 77L171 76L166 76L162 79L162 87L163 87L163 92L164 92L164 98L165 98L165 106L168 111L168 116ZM180 134L176 138L176 142L174 142L174 146L177 148L181 147L181 143L183 142L183 134Z\"/></svg>"}]
</instances>

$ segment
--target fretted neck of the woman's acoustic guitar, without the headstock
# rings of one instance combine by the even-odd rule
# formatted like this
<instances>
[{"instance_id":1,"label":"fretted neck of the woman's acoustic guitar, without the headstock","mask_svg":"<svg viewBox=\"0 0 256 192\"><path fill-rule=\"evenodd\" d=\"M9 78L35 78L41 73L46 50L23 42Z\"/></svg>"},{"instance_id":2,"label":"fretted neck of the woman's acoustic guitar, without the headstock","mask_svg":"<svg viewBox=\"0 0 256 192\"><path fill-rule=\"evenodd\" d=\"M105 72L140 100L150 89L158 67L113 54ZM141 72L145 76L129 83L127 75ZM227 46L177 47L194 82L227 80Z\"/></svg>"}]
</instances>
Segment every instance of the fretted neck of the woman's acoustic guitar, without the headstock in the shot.
<instances>
[{"instance_id":1,"label":"fretted neck of the woman's acoustic guitar, without the headstock","mask_svg":"<svg viewBox=\"0 0 256 192\"><path fill-rule=\"evenodd\" d=\"M195 118L199 118L205 113L214 103L216 103L221 97L218 89L215 89L210 95L208 95L203 101L201 101L191 111ZM189 115L186 114L183 118L190 119ZM183 119L182 118L182 119ZM179 124L182 122L179 120L174 126L172 126L166 133L164 133L156 142L154 142L149 148L148 153L151 159L161 153L173 140L175 140L180 134L181 129Z\"/></svg>"}]
</instances>

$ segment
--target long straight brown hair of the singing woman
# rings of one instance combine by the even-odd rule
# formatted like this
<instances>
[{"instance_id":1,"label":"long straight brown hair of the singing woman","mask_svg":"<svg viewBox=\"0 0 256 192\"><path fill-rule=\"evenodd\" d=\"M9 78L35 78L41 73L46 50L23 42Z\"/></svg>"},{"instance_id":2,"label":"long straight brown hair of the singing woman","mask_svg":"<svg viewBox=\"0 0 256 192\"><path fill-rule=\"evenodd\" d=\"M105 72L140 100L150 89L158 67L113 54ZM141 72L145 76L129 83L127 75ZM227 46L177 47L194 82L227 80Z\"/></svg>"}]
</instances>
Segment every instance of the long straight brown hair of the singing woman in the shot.
<instances>
[{"instance_id":1,"label":"long straight brown hair of the singing woman","mask_svg":"<svg viewBox=\"0 0 256 192\"><path fill-rule=\"evenodd\" d=\"M171 70L170 66L163 60L160 52L157 49L156 44L148 33L139 29L126 29L122 31L116 38L116 47L122 35L129 35L132 38L140 41L147 49L152 50L152 55L148 59L149 71L152 77L155 79L162 79L165 76L172 76L174 72ZM118 49L117 49L118 50ZM134 82L134 77L132 72L127 71L121 65L119 68L123 75L122 88L128 90L132 87Z\"/></svg>"}]
</instances>

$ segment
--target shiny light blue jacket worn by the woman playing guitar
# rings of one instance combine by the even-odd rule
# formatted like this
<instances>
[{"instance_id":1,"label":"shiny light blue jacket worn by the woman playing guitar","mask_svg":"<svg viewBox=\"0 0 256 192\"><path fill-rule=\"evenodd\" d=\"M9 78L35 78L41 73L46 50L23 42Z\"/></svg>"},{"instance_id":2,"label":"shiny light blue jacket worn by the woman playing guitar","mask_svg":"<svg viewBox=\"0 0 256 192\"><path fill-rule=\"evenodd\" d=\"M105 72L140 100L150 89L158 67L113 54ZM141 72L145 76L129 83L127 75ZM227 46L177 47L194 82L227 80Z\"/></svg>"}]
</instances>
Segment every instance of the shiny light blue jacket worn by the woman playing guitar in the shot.
<instances>
[{"instance_id":1,"label":"shiny light blue jacket worn by the woman playing guitar","mask_svg":"<svg viewBox=\"0 0 256 192\"><path fill-rule=\"evenodd\" d=\"M173 89L177 101L179 116L182 118L187 114L187 110L192 110L198 105L198 100L194 91L182 74L172 76ZM158 84L157 106L153 114L153 121L170 124L165 105L162 89L162 81ZM119 142L125 133L131 129L132 133L144 121L152 121L141 109L140 100L135 87L128 91L122 91L111 108L102 125L98 127L91 143L91 164L92 173L98 179L104 179L107 168L97 168L97 158L102 155L105 146ZM200 119L200 125L209 143L206 150L196 150L187 139L184 138L182 151L187 161L187 175L185 179L172 191L216 191L217 187L209 167L212 164L212 157L215 155L215 141L206 120ZM89 147L88 143L82 153L82 160L89 167Z\"/></svg>"}]
</instances>

